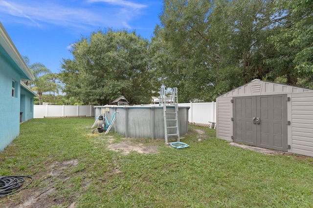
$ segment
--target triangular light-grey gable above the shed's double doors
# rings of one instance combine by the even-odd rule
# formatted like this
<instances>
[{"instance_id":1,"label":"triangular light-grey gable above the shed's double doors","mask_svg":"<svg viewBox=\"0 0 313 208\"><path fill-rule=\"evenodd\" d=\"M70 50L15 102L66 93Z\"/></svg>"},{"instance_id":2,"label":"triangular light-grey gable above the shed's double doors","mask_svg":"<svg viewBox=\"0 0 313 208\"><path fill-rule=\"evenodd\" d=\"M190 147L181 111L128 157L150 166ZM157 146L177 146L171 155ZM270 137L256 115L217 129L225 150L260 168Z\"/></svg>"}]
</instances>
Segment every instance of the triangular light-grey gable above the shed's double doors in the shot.
<instances>
[{"instance_id":1,"label":"triangular light-grey gable above the shed's double doors","mask_svg":"<svg viewBox=\"0 0 313 208\"><path fill-rule=\"evenodd\" d=\"M296 87L286 84L278 84L274 82L262 81L254 79L245 85L231 90L219 97L235 97L235 96L253 96L253 95L277 95L277 94L294 94L313 92L312 89Z\"/></svg>"}]
</instances>

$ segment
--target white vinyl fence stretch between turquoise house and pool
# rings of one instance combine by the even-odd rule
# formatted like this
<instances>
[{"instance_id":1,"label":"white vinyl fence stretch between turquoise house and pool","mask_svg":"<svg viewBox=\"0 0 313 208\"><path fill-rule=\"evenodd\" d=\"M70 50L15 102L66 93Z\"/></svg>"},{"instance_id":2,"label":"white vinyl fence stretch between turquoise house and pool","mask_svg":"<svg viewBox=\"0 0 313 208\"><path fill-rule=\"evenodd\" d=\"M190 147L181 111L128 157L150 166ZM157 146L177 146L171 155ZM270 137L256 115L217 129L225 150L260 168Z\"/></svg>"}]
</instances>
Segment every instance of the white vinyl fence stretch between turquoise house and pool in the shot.
<instances>
[{"instance_id":1,"label":"white vinyl fence stretch between turquoise house and pool","mask_svg":"<svg viewBox=\"0 0 313 208\"><path fill-rule=\"evenodd\" d=\"M34 105L34 118L94 116L91 105Z\"/></svg>"}]
</instances>

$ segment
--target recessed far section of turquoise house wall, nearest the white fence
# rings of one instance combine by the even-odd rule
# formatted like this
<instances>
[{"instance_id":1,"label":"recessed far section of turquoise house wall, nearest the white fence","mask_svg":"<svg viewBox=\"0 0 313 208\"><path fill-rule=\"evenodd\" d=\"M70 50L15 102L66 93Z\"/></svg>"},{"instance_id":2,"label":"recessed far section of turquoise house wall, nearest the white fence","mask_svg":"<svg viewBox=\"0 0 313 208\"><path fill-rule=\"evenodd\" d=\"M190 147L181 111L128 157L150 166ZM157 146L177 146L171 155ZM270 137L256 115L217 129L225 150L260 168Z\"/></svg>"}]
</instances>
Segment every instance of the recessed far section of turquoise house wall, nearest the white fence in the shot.
<instances>
[{"instance_id":1,"label":"recessed far section of turquoise house wall, nearest the white fence","mask_svg":"<svg viewBox=\"0 0 313 208\"><path fill-rule=\"evenodd\" d=\"M22 122L34 118L34 95L21 87L21 104Z\"/></svg>"}]
</instances>

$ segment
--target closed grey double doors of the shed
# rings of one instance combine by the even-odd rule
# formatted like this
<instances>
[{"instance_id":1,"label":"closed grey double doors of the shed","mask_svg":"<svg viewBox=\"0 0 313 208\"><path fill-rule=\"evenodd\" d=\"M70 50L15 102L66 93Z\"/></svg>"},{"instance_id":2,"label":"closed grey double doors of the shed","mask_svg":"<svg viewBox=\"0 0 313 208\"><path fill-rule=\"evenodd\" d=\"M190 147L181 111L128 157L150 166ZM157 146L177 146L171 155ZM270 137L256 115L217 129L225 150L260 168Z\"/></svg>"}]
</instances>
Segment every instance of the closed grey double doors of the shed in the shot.
<instances>
[{"instance_id":1,"label":"closed grey double doors of the shed","mask_svg":"<svg viewBox=\"0 0 313 208\"><path fill-rule=\"evenodd\" d=\"M287 151L287 95L234 98L234 142Z\"/></svg>"}]
</instances>

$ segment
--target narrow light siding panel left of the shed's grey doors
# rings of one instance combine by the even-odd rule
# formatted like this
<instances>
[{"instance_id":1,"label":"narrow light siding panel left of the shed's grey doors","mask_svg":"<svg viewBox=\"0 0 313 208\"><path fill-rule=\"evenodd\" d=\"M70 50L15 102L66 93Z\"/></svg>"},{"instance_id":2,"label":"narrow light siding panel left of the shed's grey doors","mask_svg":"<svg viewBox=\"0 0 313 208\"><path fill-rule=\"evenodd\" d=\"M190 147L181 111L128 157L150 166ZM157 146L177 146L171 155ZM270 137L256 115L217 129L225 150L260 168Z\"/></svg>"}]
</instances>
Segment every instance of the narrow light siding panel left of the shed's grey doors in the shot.
<instances>
[{"instance_id":1,"label":"narrow light siding panel left of the shed's grey doors","mask_svg":"<svg viewBox=\"0 0 313 208\"><path fill-rule=\"evenodd\" d=\"M216 107L216 118L217 118L217 137L232 141L230 136L232 135L232 125L231 125L231 115L232 115L232 106L230 102L230 97L217 98L217 107Z\"/></svg>"}]
</instances>

